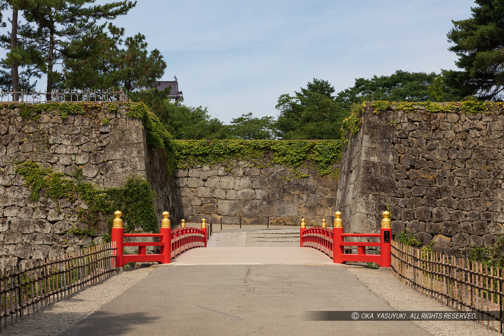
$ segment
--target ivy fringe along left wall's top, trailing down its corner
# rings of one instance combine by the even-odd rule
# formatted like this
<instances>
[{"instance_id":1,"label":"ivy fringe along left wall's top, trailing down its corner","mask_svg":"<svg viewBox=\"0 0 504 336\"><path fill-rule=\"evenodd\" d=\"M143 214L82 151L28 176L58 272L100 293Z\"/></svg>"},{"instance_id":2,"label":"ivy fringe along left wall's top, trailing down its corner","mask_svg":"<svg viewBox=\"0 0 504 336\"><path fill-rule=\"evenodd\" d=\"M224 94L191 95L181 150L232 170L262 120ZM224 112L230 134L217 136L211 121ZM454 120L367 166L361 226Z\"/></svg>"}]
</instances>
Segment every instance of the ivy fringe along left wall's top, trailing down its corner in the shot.
<instances>
[{"instance_id":1,"label":"ivy fringe along left wall's top, trailing down its corner","mask_svg":"<svg viewBox=\"0 0 504 336\"><path fill-rule=\"evenodd\" d=\"M168 169L173 171L176 166L176 161L173 155L173 140L170 133L161 123L156 114L154 114L143 103L47 103L47 104L26 104L26 103L9 103L0 104L1 108L20 108L20 114L23 118L38 119L41 113L47 111L58 111L62 119L67 118L70 114L78 114L88 118L100 119L103 124L107 124L110 120L105 118L107 112L120 112L123 110L129 117L142 119L143 125L147 133L147 143L154 148L164 148L168 161Z\"/></svg>"}]
</instances>

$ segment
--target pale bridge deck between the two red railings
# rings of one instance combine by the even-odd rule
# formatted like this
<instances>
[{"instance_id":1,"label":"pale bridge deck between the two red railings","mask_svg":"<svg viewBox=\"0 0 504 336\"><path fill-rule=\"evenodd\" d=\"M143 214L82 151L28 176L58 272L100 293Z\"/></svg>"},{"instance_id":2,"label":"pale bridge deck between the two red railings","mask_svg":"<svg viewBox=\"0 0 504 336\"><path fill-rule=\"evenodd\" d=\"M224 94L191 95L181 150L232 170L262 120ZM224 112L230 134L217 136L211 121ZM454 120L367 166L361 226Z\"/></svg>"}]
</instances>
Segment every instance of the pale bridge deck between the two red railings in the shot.
<instances>
[{"instance_id":1,"label":"pale bridge deck between the two red railings","mask_svg":"<svg viewBox=\"0 0 504 336\"><path fill-rule=\"evenodd\" d=\"M310 247L198 247L185 251L165 265L337 265Z\"/></svg>"}]
</instances>

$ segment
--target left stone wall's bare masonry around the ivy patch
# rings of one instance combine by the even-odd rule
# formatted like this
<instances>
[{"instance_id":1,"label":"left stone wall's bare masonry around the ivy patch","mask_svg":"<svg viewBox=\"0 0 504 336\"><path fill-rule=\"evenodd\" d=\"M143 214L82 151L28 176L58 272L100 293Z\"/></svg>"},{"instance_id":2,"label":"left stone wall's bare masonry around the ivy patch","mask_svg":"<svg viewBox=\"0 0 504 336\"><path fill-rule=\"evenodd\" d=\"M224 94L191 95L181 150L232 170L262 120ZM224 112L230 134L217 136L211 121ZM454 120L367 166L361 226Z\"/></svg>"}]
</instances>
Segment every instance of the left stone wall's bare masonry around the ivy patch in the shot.
<instances>
[{"instance_id":1,"label":"left stone wall's bare masonry around the ivy patch","mask_svg":"<svg viewBox=\"0 0 504 336\"><path fill-rule=\"evenodd\" d=\"M32 201L30 188L14 170L16 161L30 159L69 175L80 167L88 181L103 187L121 186L135 175L147 176L154 190L163 195L156 201L158 220L164 210L176 215L174 191L169 187L173 177L166 172L164 153L148 148L142 120L125 116L122 108L117 113L102 112L99 118L61 118L58 111L50 111L24 119L19 108L4 107L0 109L0 137L1 266L69 252L93 240L100 242L107 231L102 222L96 237L66 233L85 226L78 221L77 212L86 205L66 199L55 203L45 197Z\"/></svg>"}]
</instances>

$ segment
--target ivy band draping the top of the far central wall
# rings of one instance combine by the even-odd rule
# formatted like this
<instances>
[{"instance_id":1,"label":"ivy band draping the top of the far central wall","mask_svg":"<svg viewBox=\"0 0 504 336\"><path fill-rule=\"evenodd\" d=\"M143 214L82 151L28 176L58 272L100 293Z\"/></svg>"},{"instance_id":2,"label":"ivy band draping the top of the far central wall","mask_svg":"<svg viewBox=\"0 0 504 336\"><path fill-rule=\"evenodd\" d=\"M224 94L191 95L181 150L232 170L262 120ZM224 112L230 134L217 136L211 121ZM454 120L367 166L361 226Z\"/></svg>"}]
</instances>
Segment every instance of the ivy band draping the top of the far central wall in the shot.
<instances>
[{"instance_id":1,"label":"ivy band draping the top of the far central wall","mask_svg":"<svg viewBox=\"0 0 504 336\"><path fill-rule=\"evenodd\" d=\"M294 178L306 177L298 172L305 162L321 175L338 175L333 165L341 161L339 140L176 140L174 141L177 168L224 164L245 161L250 166L282 165L292 169Z\"/></svg>"}]
</instances>

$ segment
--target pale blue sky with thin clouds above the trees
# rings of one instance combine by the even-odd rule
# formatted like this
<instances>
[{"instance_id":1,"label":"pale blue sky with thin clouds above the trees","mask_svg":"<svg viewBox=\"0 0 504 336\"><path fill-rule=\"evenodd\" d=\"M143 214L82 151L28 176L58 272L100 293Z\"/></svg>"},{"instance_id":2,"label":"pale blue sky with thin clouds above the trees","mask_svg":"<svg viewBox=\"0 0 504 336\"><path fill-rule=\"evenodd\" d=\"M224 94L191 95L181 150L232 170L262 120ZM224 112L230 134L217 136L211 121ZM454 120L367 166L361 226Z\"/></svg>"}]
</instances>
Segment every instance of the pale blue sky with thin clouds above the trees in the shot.
<instances>
[{"instance_id":1,"label":"pale blue sky with thin clouds above the trees","mask_svg":"<svg viewBox=\"0 0 504 336\"><path fill-rule=\"evenodd\" d=\"M98 1L103 3L109 1ZM185 104L224 122L243 113L277 116L275 105L313 78L336 92L354 79L396 70L456 69L447 50L451 20L471 0L172 1L139 0L114 20L141 32L176 75Z\"/></svg>"}]
</instances>

